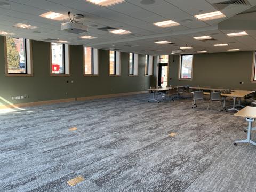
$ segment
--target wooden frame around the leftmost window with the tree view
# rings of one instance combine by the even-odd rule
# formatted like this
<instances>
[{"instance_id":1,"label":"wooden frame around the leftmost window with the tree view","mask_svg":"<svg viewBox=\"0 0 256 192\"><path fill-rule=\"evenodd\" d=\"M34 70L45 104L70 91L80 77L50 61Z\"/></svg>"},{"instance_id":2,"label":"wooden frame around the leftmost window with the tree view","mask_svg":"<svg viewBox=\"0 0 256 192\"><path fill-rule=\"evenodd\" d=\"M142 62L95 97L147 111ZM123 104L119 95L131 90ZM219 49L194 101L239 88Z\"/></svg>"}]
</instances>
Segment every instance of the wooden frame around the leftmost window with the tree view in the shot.
<instances>
[{"instance_id":1,"label":"wooden frame around the leftmost window with the tree view","mask_svg":"<svg viewBox=\"0 0 256 192\"><path fill-rule=\"evenodd\" d=\"M5 63L5 76L6 77L33 77L33 60L32 60L32 42L30 39L23 38L25 50L25 69L26 73L9 73L8 72L8 59L7 59L7 39L6 36L4 37L4 63ZM30 73L28 73L28 63L27 63L27 40L29 41L29 58L30 58Z\"/></svg>"}]
</instances>

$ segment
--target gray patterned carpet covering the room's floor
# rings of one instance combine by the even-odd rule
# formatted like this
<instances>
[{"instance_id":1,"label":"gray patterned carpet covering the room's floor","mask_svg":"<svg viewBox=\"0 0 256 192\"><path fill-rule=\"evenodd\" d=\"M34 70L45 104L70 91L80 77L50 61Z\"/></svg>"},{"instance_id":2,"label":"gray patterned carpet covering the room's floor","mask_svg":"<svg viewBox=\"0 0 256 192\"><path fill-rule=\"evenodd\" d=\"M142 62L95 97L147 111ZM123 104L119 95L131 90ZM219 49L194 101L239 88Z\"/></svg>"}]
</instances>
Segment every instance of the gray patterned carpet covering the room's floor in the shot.
<instances>
[{"instance_id":1,"label":"gray patterned carpet covering the room's floor","mask_svg":"<svg viewBox=\"0 0 256 192\"><path fill-rule=\"evenodd\" d=\"M1 114L0 191L255 191L256 147L233 145L246 138L243 118L148 98Z\"/></svg>"}]
</instances>

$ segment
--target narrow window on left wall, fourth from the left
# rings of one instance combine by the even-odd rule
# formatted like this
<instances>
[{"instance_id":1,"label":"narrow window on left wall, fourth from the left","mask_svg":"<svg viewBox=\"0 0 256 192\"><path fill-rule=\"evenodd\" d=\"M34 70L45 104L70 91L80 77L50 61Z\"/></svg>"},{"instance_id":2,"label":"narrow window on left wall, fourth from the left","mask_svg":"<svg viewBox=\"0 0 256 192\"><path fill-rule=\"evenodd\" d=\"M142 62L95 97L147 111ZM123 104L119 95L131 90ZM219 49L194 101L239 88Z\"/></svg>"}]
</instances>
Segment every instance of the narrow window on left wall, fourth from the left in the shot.
<instances>
[{"instance_id":1,"label":"narrow window on left wall, fourth from the left","mask_svg":"<svg viewBox=\"0 0 256 192\"><path fill-rule=\"evenodd\" d=\"M109 51L109 75L120 75L120 52Z\"/></svg>"}]
</instances>

